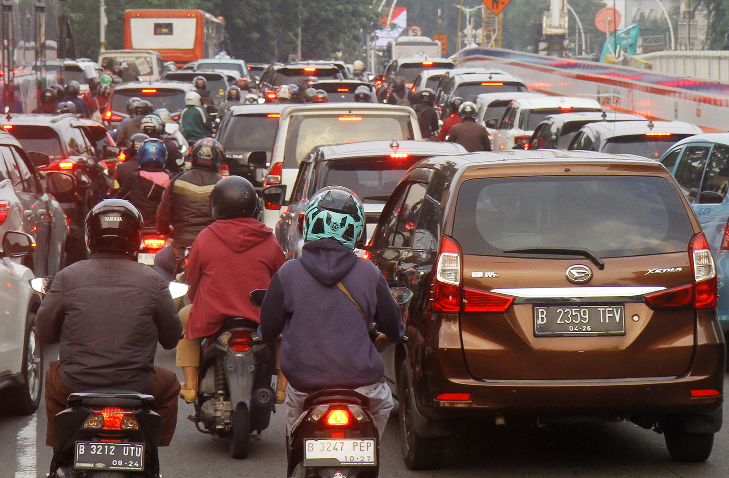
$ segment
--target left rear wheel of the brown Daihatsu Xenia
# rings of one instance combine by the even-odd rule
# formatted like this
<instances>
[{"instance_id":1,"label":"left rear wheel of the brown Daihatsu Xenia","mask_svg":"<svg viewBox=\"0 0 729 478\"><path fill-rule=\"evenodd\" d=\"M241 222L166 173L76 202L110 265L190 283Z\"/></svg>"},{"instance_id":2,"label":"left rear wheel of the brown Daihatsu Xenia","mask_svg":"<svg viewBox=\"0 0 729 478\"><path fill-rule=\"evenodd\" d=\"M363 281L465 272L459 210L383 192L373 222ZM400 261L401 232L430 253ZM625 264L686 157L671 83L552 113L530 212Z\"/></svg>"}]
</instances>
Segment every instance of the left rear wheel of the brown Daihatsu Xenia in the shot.
<instances>
[{"instance_id":1,"label":"left rear wheel of the brown Daihatsu Xenia","mask_svg":"<svg viewBox=\"0 0 729 478\"><path fill-rule=\"evenodd\" d=\"M432 470L440 466L445 448L445 438L423 438L416 434L413 428L413 388L408 383L408 371L405 361L400 366L399 380L397 380L397 397L399 410L397 418L400 428L400 448L402 461L410 470Z\"/></svg>"}]
</instances>

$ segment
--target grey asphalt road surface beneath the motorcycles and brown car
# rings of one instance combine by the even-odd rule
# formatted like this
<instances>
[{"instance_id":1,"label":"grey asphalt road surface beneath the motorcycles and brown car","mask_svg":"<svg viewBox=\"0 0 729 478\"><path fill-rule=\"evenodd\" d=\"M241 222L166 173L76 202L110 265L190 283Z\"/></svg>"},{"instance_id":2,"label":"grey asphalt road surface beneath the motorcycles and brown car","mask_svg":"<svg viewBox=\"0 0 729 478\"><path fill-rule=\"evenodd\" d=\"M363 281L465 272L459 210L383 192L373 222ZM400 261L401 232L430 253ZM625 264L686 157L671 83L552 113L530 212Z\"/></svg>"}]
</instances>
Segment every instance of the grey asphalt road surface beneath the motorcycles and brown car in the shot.
<instances>
[{"instance_id":1,"label":"grey asphalt road surface beneath the motorcycles and brown car","mask_svg":"<svg viewBox=\"0 0 729 478\"><path fill-rule=\"evenodd\" d=\"M45 364L57 356L48 348ZM157 364L174 368L174 350L159 350ZM178 375L181 376L181 374ZM729 384L725 383L729 390ZM0 404L1 407L1 404ZM281 406L279 406L281 407ZM177 430L170 447L160 449L163 477L280 477L286 474L283 409L273 415L262 440L253 442L247 460L227 454L227 441L214 442L187 420L192 405L180 402ZM397 407L396 407L397 410ZM494 428L464 425L448 441L443 468L409 471L399 450L397 414L390 417L381 445L381 477L580 477L580 478L725 478L729 476L728 426L716 436L706 463L674 463L663 436L631 423L560 425L543 428ZM31 417L0 417L0 478L43 478L50 463L44 444L43 405ZM728 422L729 423L729 422Z\"/></svg>"}]
</instances>

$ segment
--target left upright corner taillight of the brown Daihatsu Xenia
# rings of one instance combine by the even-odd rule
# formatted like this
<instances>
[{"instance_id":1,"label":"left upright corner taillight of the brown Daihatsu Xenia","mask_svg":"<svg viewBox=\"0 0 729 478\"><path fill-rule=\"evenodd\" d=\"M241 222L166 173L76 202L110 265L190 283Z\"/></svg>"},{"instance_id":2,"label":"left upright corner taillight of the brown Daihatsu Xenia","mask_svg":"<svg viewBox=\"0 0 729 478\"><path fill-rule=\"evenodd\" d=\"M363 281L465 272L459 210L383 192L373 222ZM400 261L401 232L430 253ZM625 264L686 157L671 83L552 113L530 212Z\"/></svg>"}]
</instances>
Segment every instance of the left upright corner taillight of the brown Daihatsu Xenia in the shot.
<instances>
[{"instance_id":1,"label":"left upright corner taillight of the brown Daihatsu Xenia","mask_svg":"<svg viewBox=\"0 0 729 478\"><path fill-rule=\"evenodd\" d=\"M431 307L437 312L461 310L461 246L443 236L431 287Z\"/></svg>"}]
</instances>

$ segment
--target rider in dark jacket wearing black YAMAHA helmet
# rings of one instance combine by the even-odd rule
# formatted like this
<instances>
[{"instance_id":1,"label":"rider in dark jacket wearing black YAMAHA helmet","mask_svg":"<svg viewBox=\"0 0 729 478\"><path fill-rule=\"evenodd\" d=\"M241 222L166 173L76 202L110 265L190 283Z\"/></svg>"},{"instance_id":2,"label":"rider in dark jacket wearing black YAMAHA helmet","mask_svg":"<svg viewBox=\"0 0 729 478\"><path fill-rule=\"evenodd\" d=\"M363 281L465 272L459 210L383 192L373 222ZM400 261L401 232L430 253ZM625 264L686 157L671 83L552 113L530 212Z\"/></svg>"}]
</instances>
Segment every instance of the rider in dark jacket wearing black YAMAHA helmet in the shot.
<instances>
[{"instance_id":1,"label":"rider in dark jacket wearing black YAMAHA helmet","mask_svg":"<svg viewBox=\"0 0 729 478\"><path fill-rule=\"evenodd\" d=\"M167 446L180 388L174 372L155 367L155 352L157 342L169 350L179 341L175 303L163 278L135 260L142 219L133 205L103 200L85 228L90 259L55 275L35 318L39 340L61 344L46 374L46 444L54 446L55 415L70 393L117 388L155 397Z\"/></svg>"}]
</instances>

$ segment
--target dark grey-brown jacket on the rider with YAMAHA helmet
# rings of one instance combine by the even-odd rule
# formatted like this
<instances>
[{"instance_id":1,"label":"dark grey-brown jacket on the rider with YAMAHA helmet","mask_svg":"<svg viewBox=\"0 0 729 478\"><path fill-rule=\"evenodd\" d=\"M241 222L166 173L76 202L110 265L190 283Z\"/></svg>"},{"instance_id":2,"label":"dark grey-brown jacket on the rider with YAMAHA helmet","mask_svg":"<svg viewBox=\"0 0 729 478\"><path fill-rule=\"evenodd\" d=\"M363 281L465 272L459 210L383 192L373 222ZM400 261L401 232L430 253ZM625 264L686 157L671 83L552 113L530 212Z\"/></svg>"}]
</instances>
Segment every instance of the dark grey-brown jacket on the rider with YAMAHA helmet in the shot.
<instances>
[{"instance_id":1,"label":"dark grey-brown jacket on the rider with YAMAHA helmet","mask_svg":"<svg viewBox=\"0 0 729 478\"><path fill-rule=\"evenodd\" d=\"M157 342L174 348L182 323L167 284L122 254L93 254L55 275L36 314L41 342L61 343L61 380L74 391L141 391Z\"/></svg>"}]
</instances>

